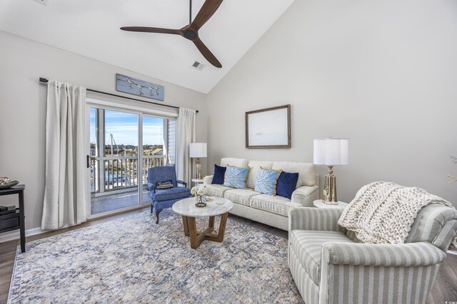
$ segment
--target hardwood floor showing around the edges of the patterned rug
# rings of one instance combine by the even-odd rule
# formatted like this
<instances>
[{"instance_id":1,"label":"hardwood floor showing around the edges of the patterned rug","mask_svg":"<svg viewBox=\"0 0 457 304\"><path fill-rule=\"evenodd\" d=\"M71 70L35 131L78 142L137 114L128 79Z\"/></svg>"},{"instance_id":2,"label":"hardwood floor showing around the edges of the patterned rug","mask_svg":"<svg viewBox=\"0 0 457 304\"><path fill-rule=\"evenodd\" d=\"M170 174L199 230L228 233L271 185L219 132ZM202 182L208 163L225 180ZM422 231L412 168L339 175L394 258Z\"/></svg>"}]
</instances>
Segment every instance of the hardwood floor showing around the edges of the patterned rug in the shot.
<instances>
[{"instance_id":1,"label":"hardwood floor showing around the edges of the patterned rug","mask_svg":"<svg viewBox=\"0 0 457 304\"><path fill-rule=\"evenodd\" d=\"M81 229L86 226L101 224L106 221L116 221L116 219L121 219L124 216L128 216L131 214L140 214L141 212L149 212L149 207L145 209L130 211L124 214L106 217L104 219L88 221L76 227L70 227L66 229L61 229L59 231L47 232L46 234L30 236L27 237L26 240L34 241L36 239L43 239L49 236L54 236L56 234L62 234L67 231ZM266 226L255 221L250 221L248 219L243 219L241 217L233 215L230 215L229 219L241 222L243 224L247 224L249 226L253 226L257 229L261 229L262 231L266 231L276 236L287 238L287 231L283 231L281 229L276 229L271 226ZM16 253L16 246L18 245L19 240L0 243L0 303L6 303L6 300L8 298L11 274L13 272L14 256ZM450 253L448 253L446 261L444 261L444 263L441 265L440 270L438 271L438 276L436 277L436 281L433 283L431 293L427 299L427 303L446 303L446 301L457 302L457 256L452 255Z\"/></svg>"}]
</instances>

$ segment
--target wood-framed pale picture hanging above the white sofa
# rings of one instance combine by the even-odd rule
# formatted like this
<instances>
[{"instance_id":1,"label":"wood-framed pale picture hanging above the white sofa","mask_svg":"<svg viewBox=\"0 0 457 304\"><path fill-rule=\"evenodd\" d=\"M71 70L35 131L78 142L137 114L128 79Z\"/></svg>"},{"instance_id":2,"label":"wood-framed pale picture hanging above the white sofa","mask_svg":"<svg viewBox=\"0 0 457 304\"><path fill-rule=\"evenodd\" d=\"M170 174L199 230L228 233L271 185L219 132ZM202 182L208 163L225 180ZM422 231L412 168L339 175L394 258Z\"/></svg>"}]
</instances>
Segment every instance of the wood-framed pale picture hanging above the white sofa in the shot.
<instances>
[{"instance_id":1,"label":"wood-framed pale picture hanging above the white sofa","mask_svg":"<svg viewBox=\"0 0 457 304\"><path fill-rule=\"evenodd\" d=\"M246 112L246 148L290 148L291 105Z\"/></svg>"}]
</instances>

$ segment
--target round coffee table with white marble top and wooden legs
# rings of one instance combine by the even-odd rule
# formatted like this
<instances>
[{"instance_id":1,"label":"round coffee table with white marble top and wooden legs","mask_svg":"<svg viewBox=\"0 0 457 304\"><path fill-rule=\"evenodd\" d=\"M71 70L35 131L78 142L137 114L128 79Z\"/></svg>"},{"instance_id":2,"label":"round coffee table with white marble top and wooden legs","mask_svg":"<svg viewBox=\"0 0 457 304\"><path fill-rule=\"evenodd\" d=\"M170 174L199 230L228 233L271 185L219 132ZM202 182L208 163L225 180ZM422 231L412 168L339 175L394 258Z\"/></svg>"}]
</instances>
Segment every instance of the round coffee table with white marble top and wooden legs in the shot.
<instances>
[{"instance_id":1,"label":"round coffee table with white marble top and wooden legs","mask_svg":"<svg viewBox=\"0 0 457 304\"><path fill-rule=\"evenodd\" d=\"M229 210L233 208L233 201L223 199L221 197L212 196L212 201L207 201L205 207L196 207L195 197L189 199L181 199L173 204L173 211L181 214L183 218L184 234L191 239L191 248L197 248L204 240L216 241L221 243L224 241L226 231L227 217ZM214 217L221 216L221 224L219 225L219 233L213 234ZM199 216L209 216L208 228L198 232L196 228L195 218Z\"/></svg>"}]
</instances>

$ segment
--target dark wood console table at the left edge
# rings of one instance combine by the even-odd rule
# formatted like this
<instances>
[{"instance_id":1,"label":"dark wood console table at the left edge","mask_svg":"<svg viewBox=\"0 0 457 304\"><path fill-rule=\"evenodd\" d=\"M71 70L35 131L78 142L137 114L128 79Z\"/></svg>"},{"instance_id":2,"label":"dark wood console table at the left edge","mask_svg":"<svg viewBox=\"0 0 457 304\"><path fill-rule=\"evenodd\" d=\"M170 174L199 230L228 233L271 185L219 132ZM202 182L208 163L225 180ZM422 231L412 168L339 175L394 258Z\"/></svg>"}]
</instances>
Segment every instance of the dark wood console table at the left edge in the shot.
<instances>
[{"instance_id":1,"label":"dark wood console table at the left edge","mask_svg":"<svg viewBox=\"0 0 457 304\"><path fill-rule=\"evenodd\" d=\"M26 224L24 216L24 189L26 185L18 184L17 186L11 187L9 189L1 189L0 196L18 194L19 195L19 208L16 208L16 213L0 215L0 222L7 221L7 228L0 229L1 232L11 231L19 229L21 236L21 252L26 251ZM19 214L17 213L19 211Z\"/></svg>"}]
</instances>

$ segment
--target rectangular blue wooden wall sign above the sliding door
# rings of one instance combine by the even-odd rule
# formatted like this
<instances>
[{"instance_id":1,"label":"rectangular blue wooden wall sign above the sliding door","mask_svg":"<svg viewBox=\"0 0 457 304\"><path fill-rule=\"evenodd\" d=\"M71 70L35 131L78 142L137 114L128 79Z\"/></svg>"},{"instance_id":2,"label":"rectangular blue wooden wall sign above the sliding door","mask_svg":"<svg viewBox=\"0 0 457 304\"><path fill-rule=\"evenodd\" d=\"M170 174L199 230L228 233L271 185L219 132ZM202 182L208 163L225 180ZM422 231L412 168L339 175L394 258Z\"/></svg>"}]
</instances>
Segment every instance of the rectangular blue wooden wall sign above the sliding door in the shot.
<instances>
[{"instance_id":1,"label":"rectangular blue wooden wall sign above the sliding door","mask_svg":"<svg viewBox=\"0 0 457 304\"><path fill-rule=\"evenodd\" d=\"M163 85L148 83L121 74L116 74L116 91L161 101L165 99L165 88Z\"/></svg>"}]
</instances>

